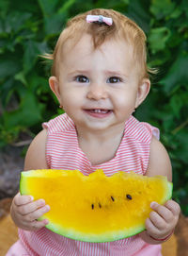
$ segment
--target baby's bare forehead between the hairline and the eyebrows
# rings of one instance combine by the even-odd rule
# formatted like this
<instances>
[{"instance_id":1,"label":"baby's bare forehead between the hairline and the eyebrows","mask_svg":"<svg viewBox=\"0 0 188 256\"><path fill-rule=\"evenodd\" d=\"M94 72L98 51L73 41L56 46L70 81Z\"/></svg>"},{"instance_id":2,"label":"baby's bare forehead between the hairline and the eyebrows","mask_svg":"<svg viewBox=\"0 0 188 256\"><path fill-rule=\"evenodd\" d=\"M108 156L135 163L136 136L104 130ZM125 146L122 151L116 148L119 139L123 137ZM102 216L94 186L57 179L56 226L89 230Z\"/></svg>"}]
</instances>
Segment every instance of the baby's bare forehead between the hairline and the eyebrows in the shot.
<instances>
[{"instance_id":1,"label":"baby's bare forehead between the hairline and the eyebrows","mask_svg":"<svg viewBox=\"0 0 188 256\"><path fill-rule=\"evenodd\" d=\"M131 69L133 66L133 47L124 40L111 39L102 43L100 47L94 49L92 38L85 34L78 43L65 43L61 64L66 68L73 69L75 66L97 67L102 69Z\"/></svg>"}]
</instances>

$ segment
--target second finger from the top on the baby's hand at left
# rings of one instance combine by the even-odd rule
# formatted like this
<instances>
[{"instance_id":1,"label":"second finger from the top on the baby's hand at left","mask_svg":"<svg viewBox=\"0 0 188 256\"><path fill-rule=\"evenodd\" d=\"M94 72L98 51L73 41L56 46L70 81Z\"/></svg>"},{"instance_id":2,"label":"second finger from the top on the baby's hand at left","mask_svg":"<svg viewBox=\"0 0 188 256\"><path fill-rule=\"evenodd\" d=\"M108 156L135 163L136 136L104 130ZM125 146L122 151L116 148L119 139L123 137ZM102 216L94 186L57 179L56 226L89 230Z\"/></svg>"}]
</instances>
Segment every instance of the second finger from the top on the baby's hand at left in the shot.
<instances>
[{"instance_id":1,"label":"second finger from the top on the baby's hand at left","mask_svg":"<svg viewBox=\"0 0 188 256\"><path fill-rule=\"evenodd\" d=\"M44 199L39 199L37 201L22 205L18 208L18 213L25 215L28 213L32 213L39 209L40 207L43 207L45 205Z\"/></svg>"}]
</instances>

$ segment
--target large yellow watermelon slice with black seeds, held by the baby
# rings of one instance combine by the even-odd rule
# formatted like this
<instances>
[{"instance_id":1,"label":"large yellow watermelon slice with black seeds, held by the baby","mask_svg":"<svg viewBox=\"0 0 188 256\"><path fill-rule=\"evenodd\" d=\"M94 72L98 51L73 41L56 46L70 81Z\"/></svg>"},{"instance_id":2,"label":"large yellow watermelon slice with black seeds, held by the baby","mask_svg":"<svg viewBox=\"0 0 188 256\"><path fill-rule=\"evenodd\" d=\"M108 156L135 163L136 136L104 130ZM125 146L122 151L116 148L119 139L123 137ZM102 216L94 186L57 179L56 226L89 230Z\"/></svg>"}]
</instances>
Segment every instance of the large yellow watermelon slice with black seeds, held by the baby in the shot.
<instances>
[{"instance_id":1,"label":"large yellow watermelon slice with black seeds, held by the baby","mask_svg":"<svg viewBox=\"0 0 188 256\"><path fill-rule=\"evenodd\" d=\"M84 176L78 170L22 172L22 195L43 198L51 210L49 230L85 242L110 242L145 230L150 202L160 204L172 196L172 183L163 176L144 177L102 170Z\"/></svg>"}]
</instances>

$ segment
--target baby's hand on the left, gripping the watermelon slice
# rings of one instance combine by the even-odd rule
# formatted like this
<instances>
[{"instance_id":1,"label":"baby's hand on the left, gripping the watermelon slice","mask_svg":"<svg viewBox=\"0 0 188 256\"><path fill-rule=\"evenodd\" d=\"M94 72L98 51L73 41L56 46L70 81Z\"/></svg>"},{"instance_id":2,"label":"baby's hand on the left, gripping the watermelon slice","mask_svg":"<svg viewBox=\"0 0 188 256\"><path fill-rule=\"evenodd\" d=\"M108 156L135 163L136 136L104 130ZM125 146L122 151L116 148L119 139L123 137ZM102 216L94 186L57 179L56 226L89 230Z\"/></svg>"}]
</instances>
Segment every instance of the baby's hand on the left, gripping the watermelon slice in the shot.
<instances>
[{"instance_id":1,"label":"baby's hand on the left, gripping the watermelon slice","mask_svg":"<svg viewBox=\"0 0 188 256\"><path fill-rule=\"evenodd\" d=\"M49 212L50 207L43 199L34 201L33 196L14 196L10 207L10 214L14 223L23 230L39 230L48 224L47 219L37 219Z\"/></svg>"}]
</instances>

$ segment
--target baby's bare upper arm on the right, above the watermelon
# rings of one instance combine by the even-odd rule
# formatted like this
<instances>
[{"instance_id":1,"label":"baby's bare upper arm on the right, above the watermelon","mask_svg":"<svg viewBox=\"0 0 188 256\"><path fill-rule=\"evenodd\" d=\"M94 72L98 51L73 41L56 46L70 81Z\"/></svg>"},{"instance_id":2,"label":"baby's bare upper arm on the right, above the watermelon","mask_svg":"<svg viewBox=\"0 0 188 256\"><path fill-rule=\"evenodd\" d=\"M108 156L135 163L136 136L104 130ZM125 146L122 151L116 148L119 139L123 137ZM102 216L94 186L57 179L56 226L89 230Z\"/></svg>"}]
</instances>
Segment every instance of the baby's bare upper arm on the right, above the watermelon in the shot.
<instances>
[{"instance_id":1,"label":"baby's bare upper arm on the right, above the watermelon","mask_svg":"<svg viewBox=\"0 0 188 256\"><path fill-rule=\"evenodd\" d=\"M164 145L154 136L150 141L149 166L147 176L163 175L172 180L172 166Z\"/></svg>"}]
</instances>

